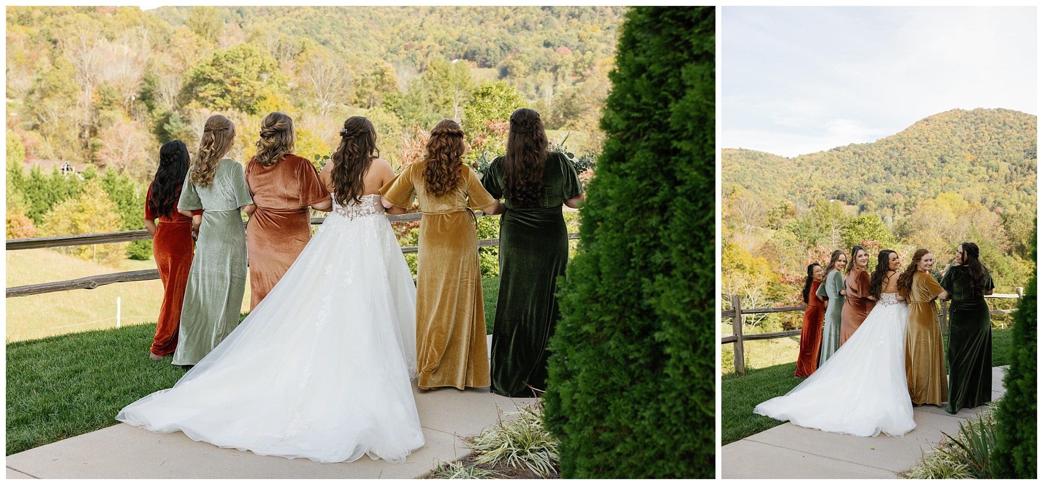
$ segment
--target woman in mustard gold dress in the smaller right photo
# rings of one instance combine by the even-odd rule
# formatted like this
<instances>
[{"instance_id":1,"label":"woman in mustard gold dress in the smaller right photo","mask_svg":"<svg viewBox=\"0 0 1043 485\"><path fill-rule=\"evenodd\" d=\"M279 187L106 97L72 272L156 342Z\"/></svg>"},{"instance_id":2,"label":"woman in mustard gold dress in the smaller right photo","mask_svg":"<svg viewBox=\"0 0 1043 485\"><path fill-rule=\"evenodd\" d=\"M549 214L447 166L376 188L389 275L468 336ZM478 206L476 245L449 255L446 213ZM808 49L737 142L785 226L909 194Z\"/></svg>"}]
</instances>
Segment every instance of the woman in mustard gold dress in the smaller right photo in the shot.
<instances>
[{"instance_id":1,"label":"woman in mustard gold dress in the smaller right photo","mask_svg":"<svg viewBox=\"0 0 1043 485\"><path fill-rule=\"evenodd\" d=\"M905 334L905 381L913 404L942 406L948 397L942 329L938 324L935 298L945 299L945 291L927 271L935 257L917 249L913 262L898 276L898 293L909 304L909 325Z\"/></svg>"}]
</instances>

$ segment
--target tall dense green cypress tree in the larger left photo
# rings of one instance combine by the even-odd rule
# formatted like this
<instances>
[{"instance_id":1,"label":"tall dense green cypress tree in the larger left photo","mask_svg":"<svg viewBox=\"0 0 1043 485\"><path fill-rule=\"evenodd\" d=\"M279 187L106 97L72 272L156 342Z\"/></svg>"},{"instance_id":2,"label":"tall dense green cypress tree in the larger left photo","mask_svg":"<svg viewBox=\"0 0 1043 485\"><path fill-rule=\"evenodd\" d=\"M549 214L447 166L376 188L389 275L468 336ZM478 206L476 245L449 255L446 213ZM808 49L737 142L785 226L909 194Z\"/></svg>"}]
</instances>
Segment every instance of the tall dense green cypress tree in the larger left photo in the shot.
<instances>
[{"instance_id":1,"label":"tall dense green cypress tree in the larger left photo","mask_svg":"<svg viewBox=\"0 0 1043 485\"><path fill-rule=\"evenodd\" d=\"M713 478L714 10L636 7L544 394L565 478Z\"/></svg>"}]
</instances>

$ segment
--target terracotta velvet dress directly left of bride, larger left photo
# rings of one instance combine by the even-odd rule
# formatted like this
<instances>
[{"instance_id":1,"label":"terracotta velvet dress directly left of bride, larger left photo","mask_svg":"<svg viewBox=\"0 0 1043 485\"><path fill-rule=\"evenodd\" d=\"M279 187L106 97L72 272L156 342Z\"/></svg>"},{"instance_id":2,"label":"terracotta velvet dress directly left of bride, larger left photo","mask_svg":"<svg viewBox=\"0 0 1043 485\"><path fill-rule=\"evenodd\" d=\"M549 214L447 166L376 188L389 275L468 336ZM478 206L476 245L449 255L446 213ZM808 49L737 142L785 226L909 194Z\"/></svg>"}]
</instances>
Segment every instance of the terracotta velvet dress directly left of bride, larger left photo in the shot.
<instances>
[{"instance_id":1,"label":"terracotta velvet dress directly left of bride, larger left photo","mask_svg":"<svg viewBox=\"0 0 1043 485\"><path fill-rule=\"evenodd\" d=\"M250 159L246 185L258 205L246 225L252 311L308 245L312 237L309 207L329 199L330 193L315 166L292 153L267 167Z\"/></svg>"}]
</instances>

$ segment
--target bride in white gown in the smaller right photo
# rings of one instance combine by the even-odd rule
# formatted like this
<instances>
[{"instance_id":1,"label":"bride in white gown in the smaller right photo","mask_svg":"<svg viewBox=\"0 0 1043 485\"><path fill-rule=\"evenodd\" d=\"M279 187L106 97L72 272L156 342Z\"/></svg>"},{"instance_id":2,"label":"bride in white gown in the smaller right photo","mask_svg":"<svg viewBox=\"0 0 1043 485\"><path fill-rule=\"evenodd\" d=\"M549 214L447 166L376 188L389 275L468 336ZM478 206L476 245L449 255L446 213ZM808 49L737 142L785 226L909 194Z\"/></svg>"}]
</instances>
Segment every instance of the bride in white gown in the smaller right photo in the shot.
<instances>
[{"instance_id":1,"label":"bride in white gown in the smaller right photo","mask_svg":"<svg viewBox=\"0 0 1043 485\"><path fill-rule=\"evenodd\" d=\"M908 306L898 295L898 254L877 256L871 291L878 301L866 321L822 367L754 413L855 436L902 436L916 428L905 385Z\"/></svg>"}]
</instances>

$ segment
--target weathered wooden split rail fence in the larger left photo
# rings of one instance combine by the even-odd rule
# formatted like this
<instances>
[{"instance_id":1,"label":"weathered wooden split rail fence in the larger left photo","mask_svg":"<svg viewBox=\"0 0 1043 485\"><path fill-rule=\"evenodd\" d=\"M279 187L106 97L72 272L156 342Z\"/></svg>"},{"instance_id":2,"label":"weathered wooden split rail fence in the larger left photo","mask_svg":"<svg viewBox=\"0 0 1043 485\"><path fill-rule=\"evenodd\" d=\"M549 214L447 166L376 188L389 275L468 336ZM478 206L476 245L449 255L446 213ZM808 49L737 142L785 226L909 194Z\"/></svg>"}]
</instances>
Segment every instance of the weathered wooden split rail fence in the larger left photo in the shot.
<instances>
[{"instance_id":1,"label":"weathered wooden split rail fence in the larger left photo","mask_svg":"<svg viewBox=\"0 0 1043 485\"><path fill-rule=\"evenodd\" d=\"M420 220L420 213L410 213L410 214L396 214L388 215L388 221L390 222L415 222ZM485 217L486 214L481 212L475 213L476 217ZM324 217L313 217L312 224L321 224L324 221ZM245 223L244 223L245 225ZM579 233L568 233L568 239L579 239ZM60 247L60 246L86 246L90 244L107 244L107 243L118 243L118 242L129 242L138 241L141 239L151 239L148 231L138 229L138 231L122 231L119 233L100 233L100 234L84 234L77 236L59 236L54 238L31 238L31 239L8 239L6 249L17 250L17 249L35 249L41 247ZM486 246L499 246L500 239L480 239L478 241L478 247ZM403 253L411 253L417 251L417 246L404 246L402 248ZM93 290L100 286L112 285L114 283L127 283L127 282L143 282L148 280L159 280L160 271L157 269L141 269L137 271L122 271L118 273L108 274L98 274L95 276L84 276L75 280L66 280L63 282L51 282L51 283L40 283L34 285L25 285L7 288L7 297L13 296L29 296L42 293L53 293L56 291L68 291L76 289L88 289Z\"/></svg>"}]
</instances>

